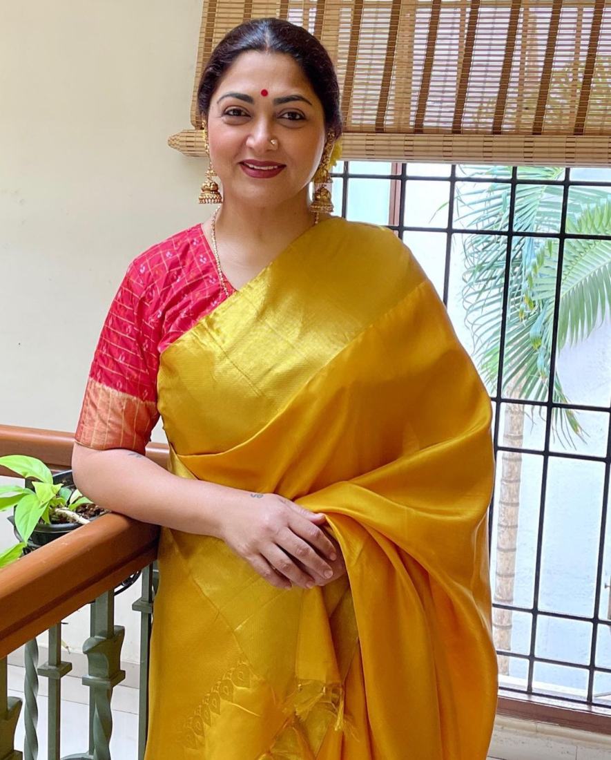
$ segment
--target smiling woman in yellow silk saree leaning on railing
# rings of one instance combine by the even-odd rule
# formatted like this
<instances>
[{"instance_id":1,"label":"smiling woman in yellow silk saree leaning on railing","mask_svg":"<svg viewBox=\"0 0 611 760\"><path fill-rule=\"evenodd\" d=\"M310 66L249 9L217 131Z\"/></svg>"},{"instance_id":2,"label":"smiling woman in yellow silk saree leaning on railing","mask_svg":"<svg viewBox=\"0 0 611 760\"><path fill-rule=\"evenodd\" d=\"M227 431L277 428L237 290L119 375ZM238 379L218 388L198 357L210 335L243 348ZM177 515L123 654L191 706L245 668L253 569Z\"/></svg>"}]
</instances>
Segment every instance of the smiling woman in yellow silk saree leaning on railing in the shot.
<instances>
[{"instance_id":1,"label":"smiling woman in yellow silk saree leaning on railing","mask_svg":"<svg viewBox=\"0 0 611 760\"><path fill-rule=\"evenodd\" d=\"M312 213L320 43L241 24L199 104L220 211L128 268L74 448L80 489L162 526L146 760L483 760L486 391L405 245Z\"/></svg>"}]
</instances>

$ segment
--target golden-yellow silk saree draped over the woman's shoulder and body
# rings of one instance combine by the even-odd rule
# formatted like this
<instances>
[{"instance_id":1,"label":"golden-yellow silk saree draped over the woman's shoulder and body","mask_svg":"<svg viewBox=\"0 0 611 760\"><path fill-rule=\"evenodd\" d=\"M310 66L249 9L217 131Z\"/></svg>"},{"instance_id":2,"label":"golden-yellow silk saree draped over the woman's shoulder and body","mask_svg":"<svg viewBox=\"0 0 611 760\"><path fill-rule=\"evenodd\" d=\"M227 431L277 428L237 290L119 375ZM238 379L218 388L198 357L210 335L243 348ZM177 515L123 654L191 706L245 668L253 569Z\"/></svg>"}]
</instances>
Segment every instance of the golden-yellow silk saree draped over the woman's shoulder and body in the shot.
<instances>
[{"instance_id":1,"label":"golden-yellow silk saree draped over the woman's shoulder and body","mask_svg":"<svg viewBox=\"0 0 611 760\"><path fill-rule=\"evenodd\" d=\"M163 351L158 398L173 473L323 512L348 574L281 591L162 529L146 760L484 760L491 404L409 249L311 227Z\"/></svg>"}]
</instances>

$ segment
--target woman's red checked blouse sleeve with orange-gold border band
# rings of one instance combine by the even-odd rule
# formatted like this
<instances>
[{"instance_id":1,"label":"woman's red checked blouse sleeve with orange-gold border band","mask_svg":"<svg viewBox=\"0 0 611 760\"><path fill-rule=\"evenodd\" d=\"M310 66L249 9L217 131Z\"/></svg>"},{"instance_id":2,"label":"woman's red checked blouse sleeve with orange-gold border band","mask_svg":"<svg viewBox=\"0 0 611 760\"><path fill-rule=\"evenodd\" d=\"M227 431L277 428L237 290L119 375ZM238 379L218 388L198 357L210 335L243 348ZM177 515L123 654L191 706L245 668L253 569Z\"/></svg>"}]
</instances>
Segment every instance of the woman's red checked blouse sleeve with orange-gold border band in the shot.
<instances>
[{"instance_id":1,"label":"woman's red checked blouse sleeve with orange-gold border band","mask_svg":"<svg viewBox=\"0 0 611 760\"><path fill-rule=\"evenodd\" d=\"M97 449L144 453L159 419L158 325L146 313L146 287L132 262L99 336L74 440Z\"/></svg>"}]
</instances>

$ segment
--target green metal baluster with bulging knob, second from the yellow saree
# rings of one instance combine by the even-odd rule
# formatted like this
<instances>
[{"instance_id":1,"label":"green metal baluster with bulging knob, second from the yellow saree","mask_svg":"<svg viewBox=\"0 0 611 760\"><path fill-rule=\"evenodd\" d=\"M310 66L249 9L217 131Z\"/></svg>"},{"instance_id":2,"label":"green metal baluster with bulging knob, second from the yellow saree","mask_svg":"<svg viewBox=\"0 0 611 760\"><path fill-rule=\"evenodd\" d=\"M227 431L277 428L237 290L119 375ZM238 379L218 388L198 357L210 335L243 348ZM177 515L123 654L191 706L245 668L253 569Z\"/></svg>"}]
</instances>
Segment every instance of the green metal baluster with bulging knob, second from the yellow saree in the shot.
<instances>
[{"instance_id":1,"label":"green metal baluster with bulging knob, second from the yellow saree","mask_svg":"<svg viewBox=\"0 0 611 760\"><path fill-rule=\"evenodd\" d=\"M115 597L112 591L92 603L91 636L83 644L89 673L83 683L90 687L89 752L68 755L64 760L111 760L112 689L125 677L121 670L121 644L125 635L122 625L114 625Z\"/></svg>"}]
</instances>

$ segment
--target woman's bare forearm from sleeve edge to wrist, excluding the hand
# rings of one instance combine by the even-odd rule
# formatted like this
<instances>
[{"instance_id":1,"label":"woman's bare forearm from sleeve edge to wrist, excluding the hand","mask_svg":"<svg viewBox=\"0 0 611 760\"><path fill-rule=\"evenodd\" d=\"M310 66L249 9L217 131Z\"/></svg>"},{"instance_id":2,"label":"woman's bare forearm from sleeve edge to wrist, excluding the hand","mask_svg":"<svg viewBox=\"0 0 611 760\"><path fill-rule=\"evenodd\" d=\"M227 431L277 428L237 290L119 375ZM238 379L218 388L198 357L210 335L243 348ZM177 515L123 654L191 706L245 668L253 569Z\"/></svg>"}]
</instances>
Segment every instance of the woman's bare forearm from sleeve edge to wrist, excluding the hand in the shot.
<instances>
[{"instance_id":1,"label":"woman's bare forearm from sleeve edge to wrist, excluding the hand","mask_svg":"<svg viewBox=\"0 0 611 760\"><path fill-rule=\"evenodd\" d=\"M77 488L105 509L140 520L219 537L223 512L247 491L205 480L189 480L124 448L106 451L74 445Z\"/></svg>"}]
</instances>

